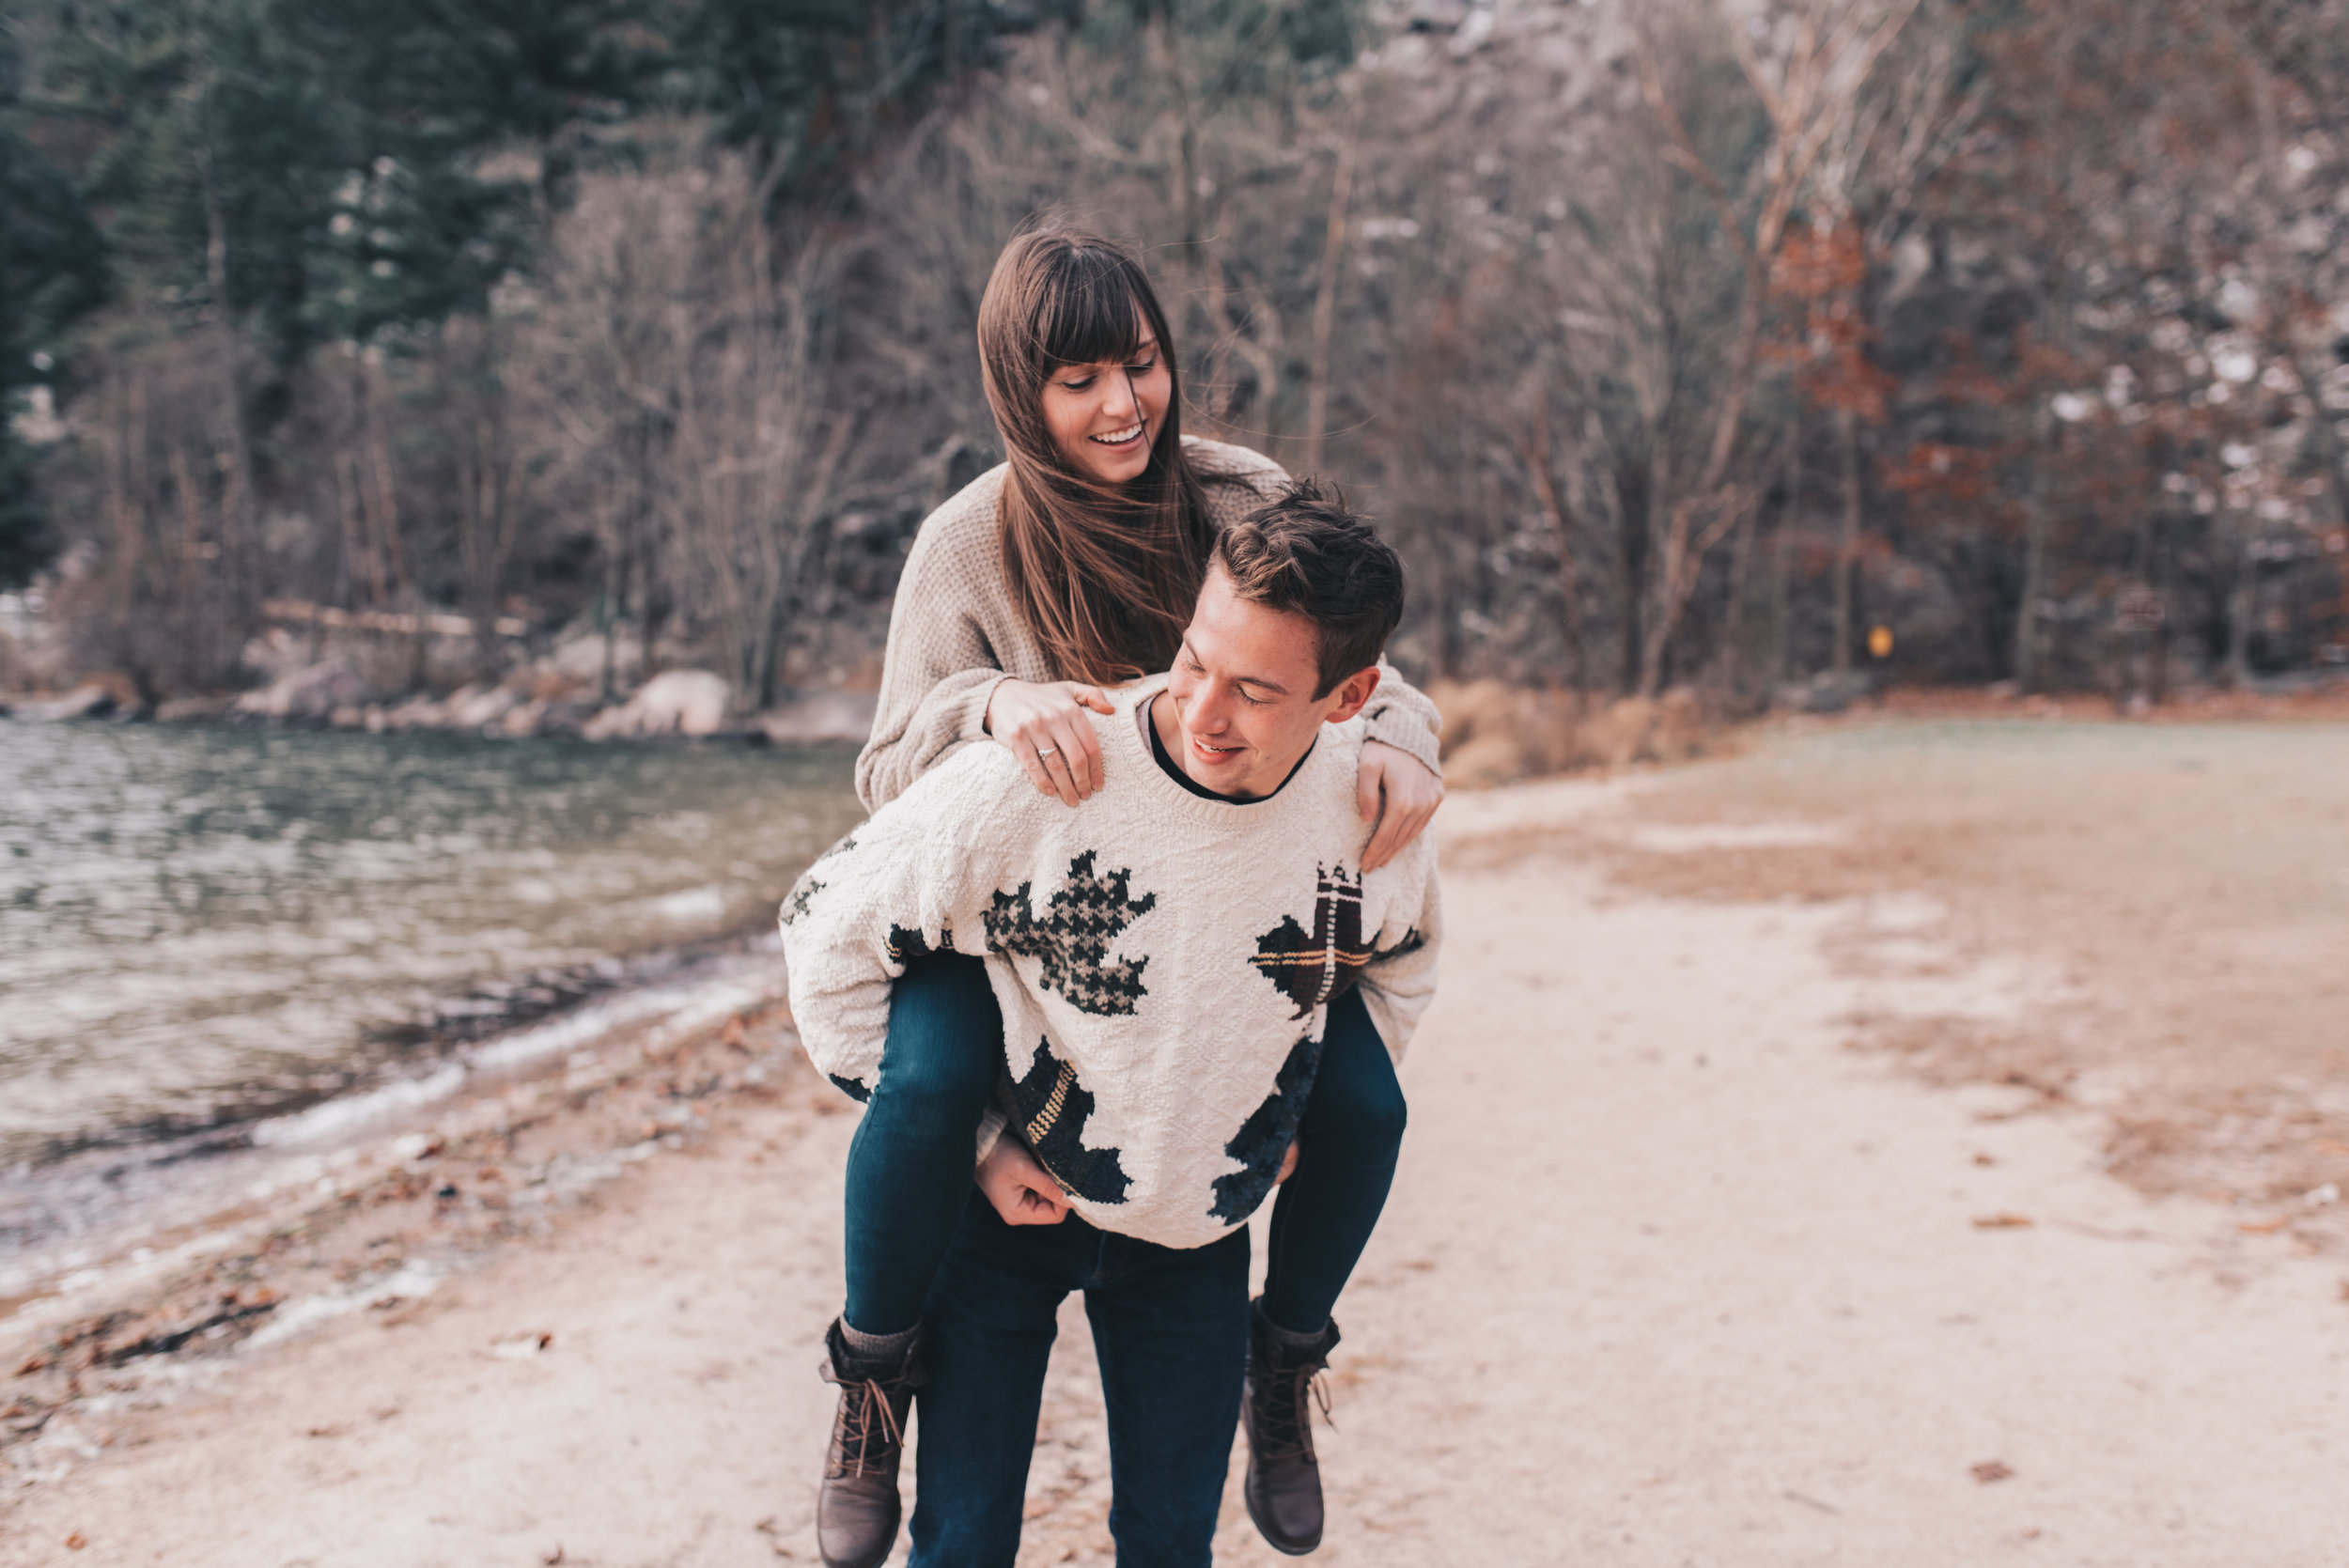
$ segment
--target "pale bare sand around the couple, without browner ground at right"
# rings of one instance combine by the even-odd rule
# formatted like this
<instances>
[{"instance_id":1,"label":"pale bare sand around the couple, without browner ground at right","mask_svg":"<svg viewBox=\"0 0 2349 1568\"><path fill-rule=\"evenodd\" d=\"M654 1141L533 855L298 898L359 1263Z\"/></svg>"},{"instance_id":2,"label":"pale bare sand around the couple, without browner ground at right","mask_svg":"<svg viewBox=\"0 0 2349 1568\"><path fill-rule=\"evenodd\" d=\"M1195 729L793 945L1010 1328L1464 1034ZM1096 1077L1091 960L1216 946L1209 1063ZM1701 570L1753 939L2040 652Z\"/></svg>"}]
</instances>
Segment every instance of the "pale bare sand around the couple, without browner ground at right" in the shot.
<instances>
[{"instance_id":1,"label":"pale bare sand around the couple, without browner ground at right","mask_svg":"<svg viewBox=\"0 0 2349 1568\"><path fill-rule=\"evenodd\" d=\"M1447 803L1445 988L1341 1305L1318 1561L2349 1561L2323 1235L2126 1185L2107 1108L1853 1049L2074 1016L2095 974L1898 890L1626 876L1773 831L1832 854L1750 810L1708 838L1705 800ZM827 1103L712 1099L416 1300L59 1413L0 1474L0 1563L813 1561L853 1131ZM1111 1561L1073 1312L1062 1345L1022 1566ZM1217 1561L1278 1561L1236 1495Z\"/></svg>"}]
</instances>

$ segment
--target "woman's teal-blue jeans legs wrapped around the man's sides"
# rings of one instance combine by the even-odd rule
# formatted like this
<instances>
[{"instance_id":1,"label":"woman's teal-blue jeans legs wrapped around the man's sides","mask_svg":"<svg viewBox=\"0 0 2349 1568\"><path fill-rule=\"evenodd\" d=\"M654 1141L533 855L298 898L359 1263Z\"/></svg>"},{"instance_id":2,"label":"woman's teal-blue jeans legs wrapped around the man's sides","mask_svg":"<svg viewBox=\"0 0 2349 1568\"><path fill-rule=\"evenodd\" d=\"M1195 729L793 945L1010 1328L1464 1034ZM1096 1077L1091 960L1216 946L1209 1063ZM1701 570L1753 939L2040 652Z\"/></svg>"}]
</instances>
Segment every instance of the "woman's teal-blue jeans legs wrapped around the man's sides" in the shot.
<instances>
[{"instance_id":1,"label":"woman's teal-blue jeans legs wrapped around the man's sides","mask_svg":"<svg viewBox=\"0 0 2349 1568\"><path fill-rule=\"evenodd\" d=\"M848 1148L848 1324L900 1333L972 1195L980 1115L1003 1070L1003 1014L987 965L937 953L907 965L890 995L888 1045ZM1346 1289L1402 1150L1393 1059L1358 991L1330 1005L1322 1059L1299 1122L1297 1174L1273 1199L1264 1314L1318 1333Z\"/></svg>"}]
</instances>

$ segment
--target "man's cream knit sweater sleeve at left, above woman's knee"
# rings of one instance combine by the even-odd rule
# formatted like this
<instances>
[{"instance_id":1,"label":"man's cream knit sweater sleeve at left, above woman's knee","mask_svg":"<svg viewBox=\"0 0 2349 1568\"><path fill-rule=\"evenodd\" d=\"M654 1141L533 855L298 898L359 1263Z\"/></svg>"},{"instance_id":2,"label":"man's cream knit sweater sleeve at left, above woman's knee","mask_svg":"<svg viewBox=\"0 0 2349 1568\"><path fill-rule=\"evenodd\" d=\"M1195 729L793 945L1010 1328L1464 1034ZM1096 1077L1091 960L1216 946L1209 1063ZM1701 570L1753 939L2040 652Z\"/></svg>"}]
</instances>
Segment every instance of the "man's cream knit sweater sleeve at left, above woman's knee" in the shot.
<instances>
[{"instance_id":1,"label":"man's cream knit sweater sleeve at left, above woman's knee","mask_svg":"<svg viewBox=\"0 0 2349 1568\"><path fill-rule=\"evenodd\" d=\"M984 951L998 871L987 843L1003 843L1001 824L1019 810L1005 768L1008 758L982 753L923 775L808 866L782 904L792 1021L815 1068L850 1099L871 1094L890 981L907 962Z\"/></svg>"}]
</instances>

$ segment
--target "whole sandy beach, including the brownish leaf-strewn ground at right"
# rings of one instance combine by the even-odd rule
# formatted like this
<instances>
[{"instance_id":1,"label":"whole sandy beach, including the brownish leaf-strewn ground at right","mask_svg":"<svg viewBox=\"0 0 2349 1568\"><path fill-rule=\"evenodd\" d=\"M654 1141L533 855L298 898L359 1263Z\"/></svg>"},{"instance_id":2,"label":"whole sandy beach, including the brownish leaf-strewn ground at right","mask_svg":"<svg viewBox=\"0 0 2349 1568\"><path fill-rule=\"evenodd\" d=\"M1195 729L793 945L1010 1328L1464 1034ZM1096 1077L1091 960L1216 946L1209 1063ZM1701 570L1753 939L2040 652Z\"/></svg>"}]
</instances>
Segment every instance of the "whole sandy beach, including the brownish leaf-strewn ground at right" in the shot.
<instances>
[{"instance_id":1,"label":"whole sandy beach, including the brownish leaf-strewn ground at right","mask_svg":"<svg viewBox=\"0 0 2349 1568\"><path fill-rule=\"evenodd\" d=\"M1445 805L1318 1561L2342 1561L2349 728L2044 735ZM815 1561L853 1127L745 1007L33 1303L0 1563ZM1029 1491L1113 1561L1073 1307Z\"/></svg>"}]
</instances>

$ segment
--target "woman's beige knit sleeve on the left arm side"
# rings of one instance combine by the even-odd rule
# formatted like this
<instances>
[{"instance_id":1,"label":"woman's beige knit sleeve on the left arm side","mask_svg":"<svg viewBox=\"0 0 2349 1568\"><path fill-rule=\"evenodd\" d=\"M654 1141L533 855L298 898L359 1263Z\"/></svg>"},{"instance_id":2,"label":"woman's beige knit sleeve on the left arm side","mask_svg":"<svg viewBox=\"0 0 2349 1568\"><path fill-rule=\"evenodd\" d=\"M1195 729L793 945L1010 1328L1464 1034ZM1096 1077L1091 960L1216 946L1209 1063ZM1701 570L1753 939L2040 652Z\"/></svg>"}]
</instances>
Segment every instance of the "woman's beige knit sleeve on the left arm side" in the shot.
<instances>
[{"instance_id":1,"label":"woman's beige knit sleeve on the left arm side","mask_svg":"<svg viewBox=\"0 0 2349 1568\"><path fill-rule=\"evenodd\" d=\"M956 547L954 533L949 519L933 519L897 580L874 732L857 753L857 798L869 812L987 739L987 702L1005 678L1003 657L980 627L987 584L972 582L970 552Z\"/></svg>"}]
</instances>

